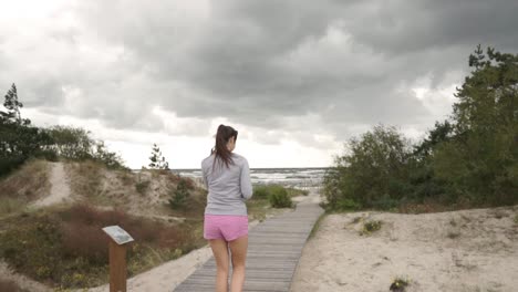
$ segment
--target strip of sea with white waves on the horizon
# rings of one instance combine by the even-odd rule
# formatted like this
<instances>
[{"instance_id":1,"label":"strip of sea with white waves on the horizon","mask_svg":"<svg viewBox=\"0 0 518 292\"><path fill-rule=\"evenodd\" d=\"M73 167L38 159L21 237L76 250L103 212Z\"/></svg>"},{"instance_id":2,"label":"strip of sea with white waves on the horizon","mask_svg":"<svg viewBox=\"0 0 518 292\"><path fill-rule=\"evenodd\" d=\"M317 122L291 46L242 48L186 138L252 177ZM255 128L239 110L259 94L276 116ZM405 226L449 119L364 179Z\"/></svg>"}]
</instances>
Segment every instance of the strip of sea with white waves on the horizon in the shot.
<instances>
[{"instance_id":1,"label":"strip of sea with white waves on the horizon","mask_svg":"<svg viewBox=\"0 0 518 292\"><path fill-rule=\"evenodd\" d=\"M299 189L321 187L328 168L250 168L252 185L282 185ZM201 181L201 169L172 169L180 176Z\"/></svg>"}]
</instances>

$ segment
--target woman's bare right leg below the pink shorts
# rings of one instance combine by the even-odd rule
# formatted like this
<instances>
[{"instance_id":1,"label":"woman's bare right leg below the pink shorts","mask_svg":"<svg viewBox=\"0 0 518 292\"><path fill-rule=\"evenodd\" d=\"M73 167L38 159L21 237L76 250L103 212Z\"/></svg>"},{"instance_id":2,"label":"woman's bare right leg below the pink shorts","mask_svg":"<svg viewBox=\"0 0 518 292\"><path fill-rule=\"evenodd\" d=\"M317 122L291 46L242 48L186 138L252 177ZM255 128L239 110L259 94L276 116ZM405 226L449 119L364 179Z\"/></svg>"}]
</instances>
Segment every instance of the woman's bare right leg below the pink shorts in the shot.
<instances>
[{"instance_id":1,"label":"woman's bare right leg below the pink shorts","mask_svg":"<svg viewBox=\"0 0 518 292\"><path fill-rule=\"evenodd\" d=\"M229 241L230 252L232 253L232 282L231 292L241 292L245 283L245 262L247 260L248 236L240 237Z\"/></svg>"}]
</instances>

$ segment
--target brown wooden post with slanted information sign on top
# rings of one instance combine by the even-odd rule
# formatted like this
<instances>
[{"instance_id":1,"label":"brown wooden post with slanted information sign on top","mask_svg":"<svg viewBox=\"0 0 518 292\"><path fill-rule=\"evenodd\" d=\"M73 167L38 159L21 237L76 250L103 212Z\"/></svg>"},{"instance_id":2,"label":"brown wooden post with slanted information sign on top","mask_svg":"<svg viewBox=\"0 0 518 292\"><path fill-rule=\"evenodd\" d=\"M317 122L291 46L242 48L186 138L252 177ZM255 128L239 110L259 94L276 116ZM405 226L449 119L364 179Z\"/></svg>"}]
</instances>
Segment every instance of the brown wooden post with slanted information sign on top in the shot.
<instances>
[{"instance_id":1,"label":"brown wooden post with slanted information sign on top","mask_svg":"<svg viewBox=\"0 0 518 292\"><path fill-rule=\"evenodd\" d=\"M126 247L133 238L118 226L103 228L110 237L110 292L126 292Z\"/></svg>"}]
</instances>

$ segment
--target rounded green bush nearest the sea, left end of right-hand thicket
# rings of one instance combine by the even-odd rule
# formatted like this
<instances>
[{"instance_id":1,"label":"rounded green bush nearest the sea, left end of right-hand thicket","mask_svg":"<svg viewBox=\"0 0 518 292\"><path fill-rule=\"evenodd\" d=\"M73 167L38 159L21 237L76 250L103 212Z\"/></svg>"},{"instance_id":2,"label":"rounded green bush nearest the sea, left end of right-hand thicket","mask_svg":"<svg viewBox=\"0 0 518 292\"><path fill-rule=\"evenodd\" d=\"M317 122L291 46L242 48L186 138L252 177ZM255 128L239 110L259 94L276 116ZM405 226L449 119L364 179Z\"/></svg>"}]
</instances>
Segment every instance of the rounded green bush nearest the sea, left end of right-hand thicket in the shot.
<instances>
[{"instance_id":1,"label":"rounded green bush nearest the sea, left end of right-hand thicket","mask_svg":"<svg viewBox=\"0 0 518 292\"><path fill-rule=\"evenodd\" d=\"M375 126L348 149L324 176L328 209L392 208L412 192L411 144L396 128Z\"/></svg>"}]
</instances>

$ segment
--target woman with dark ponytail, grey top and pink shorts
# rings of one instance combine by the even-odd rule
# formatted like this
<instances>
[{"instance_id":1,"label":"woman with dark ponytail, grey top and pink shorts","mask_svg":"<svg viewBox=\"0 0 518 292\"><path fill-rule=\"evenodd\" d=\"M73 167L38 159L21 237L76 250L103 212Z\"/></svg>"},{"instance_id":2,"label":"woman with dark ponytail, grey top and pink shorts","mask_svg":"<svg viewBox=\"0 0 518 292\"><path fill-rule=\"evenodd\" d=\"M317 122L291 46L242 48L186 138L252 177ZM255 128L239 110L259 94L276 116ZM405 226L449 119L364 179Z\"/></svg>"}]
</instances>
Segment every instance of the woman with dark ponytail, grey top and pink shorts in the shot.
<instances>
[{"instance_id":1,"label":"woman with dark ponytail, grey top and pink shorts","mask_svg":"<svg viewBox=\"0 0 518 292\"><path fill-rule=\"evenodd\" d=\"M232 260L231 292L242 291L248 249L248 215L245 200L251 198L250 170L245 157L234 154L238 132L219 125L216 147L201 161L208 189L205 208L204 238L216 259L216 291L227 292L229 252Z\"/></svg>"}]
</instances>

